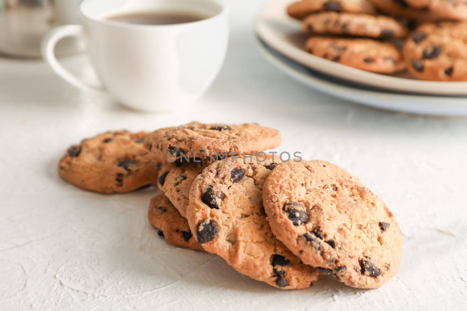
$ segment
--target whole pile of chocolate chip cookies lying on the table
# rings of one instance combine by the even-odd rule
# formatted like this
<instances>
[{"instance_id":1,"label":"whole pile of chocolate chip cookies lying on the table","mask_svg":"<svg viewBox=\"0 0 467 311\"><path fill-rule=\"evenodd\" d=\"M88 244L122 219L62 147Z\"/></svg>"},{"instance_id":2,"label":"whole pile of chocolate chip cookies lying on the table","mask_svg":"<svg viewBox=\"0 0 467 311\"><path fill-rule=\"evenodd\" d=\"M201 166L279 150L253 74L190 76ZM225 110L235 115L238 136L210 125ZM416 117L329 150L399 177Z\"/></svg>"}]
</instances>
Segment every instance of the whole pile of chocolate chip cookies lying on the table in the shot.
<instances>
[{"instance_id":1,"label":"whole pile of chocolate chip cookies lying on the table","mask_svg":"<svg viewBox=\"0 0 467 311\"><path fill-rule=\"evenodd\" d=\"M156 184L148 219L159 236L280 289L323 275L358 288L389 281L402 235L388 207L338 166L264 152L280 143L257 124L109 132L72 146L59 172L100 193Z\"/></svg>"}]
</instances>

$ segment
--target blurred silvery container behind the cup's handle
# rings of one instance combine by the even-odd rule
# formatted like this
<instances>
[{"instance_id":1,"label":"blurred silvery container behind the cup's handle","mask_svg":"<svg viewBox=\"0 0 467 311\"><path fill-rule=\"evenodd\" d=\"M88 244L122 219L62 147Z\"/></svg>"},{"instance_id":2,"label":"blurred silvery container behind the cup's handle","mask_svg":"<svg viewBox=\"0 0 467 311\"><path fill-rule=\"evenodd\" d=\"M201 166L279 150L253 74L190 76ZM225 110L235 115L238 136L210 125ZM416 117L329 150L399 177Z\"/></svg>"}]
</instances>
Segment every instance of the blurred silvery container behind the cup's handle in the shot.
<instances>
[{"instance_id":1,"label":"blurred silvery container behind the cup's handle","mask_svg":"<svg viewBox=\"0 0 467 311\"><path fill-rule=\"evenodd\" d=\"M0 0L0 53L41 57L42 36L51 28L79 24L82 0ZM57 55L69 55L83 48L76 38L57 45Z\"/></svg>"}]
</instances>

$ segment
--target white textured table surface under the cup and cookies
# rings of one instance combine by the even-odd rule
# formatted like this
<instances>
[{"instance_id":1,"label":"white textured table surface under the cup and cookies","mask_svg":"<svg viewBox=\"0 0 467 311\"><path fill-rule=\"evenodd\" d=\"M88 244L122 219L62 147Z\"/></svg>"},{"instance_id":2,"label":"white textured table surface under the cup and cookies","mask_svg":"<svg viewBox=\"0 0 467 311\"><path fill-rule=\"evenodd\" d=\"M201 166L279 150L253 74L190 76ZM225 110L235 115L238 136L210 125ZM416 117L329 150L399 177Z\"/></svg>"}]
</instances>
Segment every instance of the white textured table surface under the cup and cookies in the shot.
<instances>
[{"instance_id":1,"label":"white textured table surface under the cup and cookies","mask_svg":"<svg viewBox=\"0 0 467 311\"><path fill-rule=\"evenodd\" d=\"M0 310L466 309L467 121L375 111L302 87L255 51L251 24L263 1L231 2L226 64L193 111L127 111L42 62L0 58ZM81 56L64 62L88 73ZM99 195L57 175L82 138L191 120L272 126L280 150L357 175L402 228L396 277L377 290L331 280L277 290L159 238L146 219L156 189Z\"/></svg>"}]
</instances>

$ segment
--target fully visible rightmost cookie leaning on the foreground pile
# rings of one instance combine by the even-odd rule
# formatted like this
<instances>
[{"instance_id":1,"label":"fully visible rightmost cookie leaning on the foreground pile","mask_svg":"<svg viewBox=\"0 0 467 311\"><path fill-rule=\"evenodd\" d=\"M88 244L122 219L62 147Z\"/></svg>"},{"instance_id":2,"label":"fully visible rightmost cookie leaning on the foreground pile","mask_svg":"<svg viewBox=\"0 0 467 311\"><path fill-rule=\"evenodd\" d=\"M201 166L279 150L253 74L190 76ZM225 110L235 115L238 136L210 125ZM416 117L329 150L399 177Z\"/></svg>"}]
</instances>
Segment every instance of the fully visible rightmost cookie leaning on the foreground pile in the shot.
<instances>
[{"instance_id":1,"label":"fully visible rightmost cookie leaning on the foreground pile","mask_svg":"<svg viewBox=\"0 0 467 311\"><path fill-rule=\"evenodd\" d=\"M278 164L262 195L277 239L320 272L377 288L399 269L402 234L393 214L342 168L318 160Z\"/></svg>"}]
</instances>

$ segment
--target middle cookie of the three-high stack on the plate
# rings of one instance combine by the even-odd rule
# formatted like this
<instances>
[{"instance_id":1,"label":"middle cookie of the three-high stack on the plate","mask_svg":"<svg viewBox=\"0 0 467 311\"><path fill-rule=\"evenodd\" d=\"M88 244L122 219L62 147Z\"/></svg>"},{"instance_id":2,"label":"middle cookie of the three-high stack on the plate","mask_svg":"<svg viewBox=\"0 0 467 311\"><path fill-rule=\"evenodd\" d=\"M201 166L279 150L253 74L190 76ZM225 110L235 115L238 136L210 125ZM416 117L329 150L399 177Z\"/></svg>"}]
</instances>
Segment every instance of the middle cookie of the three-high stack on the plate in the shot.
<instances>
[{"instance_id":1,"label":"middle cookie of the three-high stack on the plate","mask_svg":"<svg viewBox=\"0 0 467 311\"><path fill-rule=\"evenodd\" d=\"M308 34L351 35L371 38L402 38L407 28L389 16L323 12L312 14L302 22Z\"/></svg>"}]
</instances>

